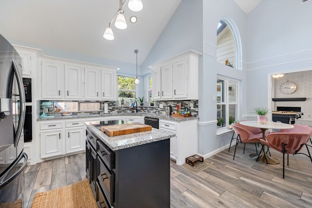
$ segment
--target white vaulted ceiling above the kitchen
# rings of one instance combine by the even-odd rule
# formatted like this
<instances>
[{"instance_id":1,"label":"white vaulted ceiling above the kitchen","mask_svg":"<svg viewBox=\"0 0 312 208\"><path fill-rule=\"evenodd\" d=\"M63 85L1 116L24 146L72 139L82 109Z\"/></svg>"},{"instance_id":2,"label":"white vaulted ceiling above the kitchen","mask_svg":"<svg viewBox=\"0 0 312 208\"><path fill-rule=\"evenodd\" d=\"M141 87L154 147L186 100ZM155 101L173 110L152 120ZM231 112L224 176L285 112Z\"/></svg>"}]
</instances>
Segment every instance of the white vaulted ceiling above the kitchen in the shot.
<instances>
[{"instance_id":1,"label":"white vaulted ceiling above the kitchen","mask_svg":"<svg viewBox=\"0 0 312 208\"><path fill-rule=\"evenodd\" d=\"M249 13L260 0L234 0ZM103 38L119 0L0 0L0 34L38 46L141 64L181 0L142 0L143 10L124 6L128 28L112 26L115 39ZM247 3L248 2L248 3ZM251 3L253 2L253 4ZM137 23L130 23L131 16Z\"/></svg>"}]
</instances>

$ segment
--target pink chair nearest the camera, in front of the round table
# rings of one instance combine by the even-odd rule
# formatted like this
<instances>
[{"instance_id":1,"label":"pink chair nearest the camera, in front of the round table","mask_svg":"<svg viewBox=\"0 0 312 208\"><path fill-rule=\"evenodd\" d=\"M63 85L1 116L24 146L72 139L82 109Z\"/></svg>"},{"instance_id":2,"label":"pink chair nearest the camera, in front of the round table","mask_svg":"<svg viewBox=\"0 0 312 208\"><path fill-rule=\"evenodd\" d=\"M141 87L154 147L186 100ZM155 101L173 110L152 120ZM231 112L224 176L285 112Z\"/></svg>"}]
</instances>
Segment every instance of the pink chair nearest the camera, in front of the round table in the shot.
<instances>
[{"instance_id":1,"label":"pink chair nearest the camera, in front of the round table","mask_svg":"<svg viewBox=\"0 0 312 208\"><path fill-rule=\"evenodd\" d=\"M310 136L310 133L277 132L268 134L266 140L260 139L260 143L262 149L266 145L283 153L283 178L285 178L285 154L287 154L287 165L289 165L289 154L297 154L301 151Z\"/></svg>"}]
</instances>

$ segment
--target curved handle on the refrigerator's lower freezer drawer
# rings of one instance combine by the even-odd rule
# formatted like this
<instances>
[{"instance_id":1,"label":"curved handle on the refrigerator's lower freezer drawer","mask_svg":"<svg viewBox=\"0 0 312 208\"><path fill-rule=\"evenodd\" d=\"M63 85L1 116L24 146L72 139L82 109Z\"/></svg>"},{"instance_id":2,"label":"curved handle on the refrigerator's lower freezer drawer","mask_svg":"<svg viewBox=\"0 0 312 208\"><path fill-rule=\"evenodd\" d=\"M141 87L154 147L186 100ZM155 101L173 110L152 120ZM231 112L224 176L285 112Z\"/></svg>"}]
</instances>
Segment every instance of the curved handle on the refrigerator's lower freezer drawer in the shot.
<instances>
[{"instance_id":1,"label":"curved handle on the refrigerator's lower freezer drawer","mask_svg":"<svg viewBox=\"0 0 312 208\"><path fill-rule=\"evenodd\" d=\"M17 166L20 162L20 160L22 158L25 158L25 161L24 163L22 164L22 166L20 166L19 170L17 170L13 175L11 175L11 177L9 177L7 180L5 181L2 181L6 175L13 169L15 168L15 166ZM12 163L7 169L5 172L3 172L1 174L1 178L0 178L0 189L2 189L5 185L7 185L8 183L10 183L13 179L15 179L21 172L22 170L26 167L27 165L27 162L28 162L28 156L25 152L22 152L20 154L20 156L15 160L14 163Z\"/></svg>"}]
</instances>

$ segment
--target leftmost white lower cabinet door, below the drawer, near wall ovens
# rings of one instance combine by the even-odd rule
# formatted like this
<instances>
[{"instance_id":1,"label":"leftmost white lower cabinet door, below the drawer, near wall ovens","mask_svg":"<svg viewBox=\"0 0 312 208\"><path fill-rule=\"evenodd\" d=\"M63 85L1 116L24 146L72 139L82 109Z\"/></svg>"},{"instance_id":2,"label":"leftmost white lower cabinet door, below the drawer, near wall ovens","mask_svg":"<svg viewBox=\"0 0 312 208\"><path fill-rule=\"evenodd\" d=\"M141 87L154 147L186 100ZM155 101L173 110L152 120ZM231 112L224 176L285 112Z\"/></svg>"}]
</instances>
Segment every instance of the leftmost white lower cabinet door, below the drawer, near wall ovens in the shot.
<instances>
[{"instance_id":1,"label":"leftmost white lower cabinet door, below the drawer, near wall ovens","mask_svg":"<svg viewBox=\"0 0 312 208\"><path fill-rule=\"evenodd\" d=\"M40 158L63 154L62 130L40 132Z\"/></svg>"}]
</instances>

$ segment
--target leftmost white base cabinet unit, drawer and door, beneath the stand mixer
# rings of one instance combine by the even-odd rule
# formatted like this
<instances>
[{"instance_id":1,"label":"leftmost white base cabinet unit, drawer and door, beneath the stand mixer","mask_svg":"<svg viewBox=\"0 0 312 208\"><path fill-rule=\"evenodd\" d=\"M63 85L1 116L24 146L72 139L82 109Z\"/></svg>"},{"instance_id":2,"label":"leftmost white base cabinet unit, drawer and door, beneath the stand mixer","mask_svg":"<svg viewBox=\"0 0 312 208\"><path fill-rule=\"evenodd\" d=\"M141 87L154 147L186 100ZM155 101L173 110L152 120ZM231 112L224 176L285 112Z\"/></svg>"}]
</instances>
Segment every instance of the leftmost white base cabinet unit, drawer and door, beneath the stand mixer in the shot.
<instances>
[{"instance_id":1,"label":"leftmost white base cabinet unit, drawer and door, beneath the stand mixer","mask_svg":"<svg viewBox=\"0 0 312 208\"><path fill-rule=\"evenodd\" d=\"M64 154L63 123L40 123L40 158Z\"/></svg>"}]
</instances>

